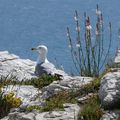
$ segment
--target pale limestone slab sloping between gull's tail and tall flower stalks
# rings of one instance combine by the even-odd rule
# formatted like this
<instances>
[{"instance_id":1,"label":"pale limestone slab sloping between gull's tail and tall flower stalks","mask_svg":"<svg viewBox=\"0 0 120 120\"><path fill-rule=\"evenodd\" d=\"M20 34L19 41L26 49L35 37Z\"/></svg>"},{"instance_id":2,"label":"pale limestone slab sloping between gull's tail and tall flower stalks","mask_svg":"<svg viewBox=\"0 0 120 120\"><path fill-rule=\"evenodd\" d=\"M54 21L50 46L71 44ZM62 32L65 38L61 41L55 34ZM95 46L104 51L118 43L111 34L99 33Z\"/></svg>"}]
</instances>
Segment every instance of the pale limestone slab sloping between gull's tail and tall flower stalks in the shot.
<instances>
[{"instance_id":1,"label":"pale limestone slab sloping between gull's tail and tall flower stalks","mask_svg":"<svg viewBox=\"0 0 120 120\"><path fill-rule=\"evenodd\" d=\"M44 87L42 89L42 98L46 99L60 91L64 90L73 90L73 89L79 89L81 86L90 83L93 78L91 77L81 77L81 76L75 76L70 77L66 76L63 78L63 80L55 81L51 83L49 86Z\"/></svg>"}]
</instances>

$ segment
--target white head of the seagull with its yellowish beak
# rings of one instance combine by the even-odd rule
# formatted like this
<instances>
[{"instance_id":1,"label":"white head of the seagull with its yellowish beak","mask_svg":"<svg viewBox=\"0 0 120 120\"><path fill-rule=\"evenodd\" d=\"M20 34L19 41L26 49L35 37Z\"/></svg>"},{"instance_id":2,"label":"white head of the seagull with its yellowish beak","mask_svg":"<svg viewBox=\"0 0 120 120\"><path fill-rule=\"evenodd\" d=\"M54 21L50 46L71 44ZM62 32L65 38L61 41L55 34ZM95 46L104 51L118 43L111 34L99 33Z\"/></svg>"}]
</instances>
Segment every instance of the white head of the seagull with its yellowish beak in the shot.
<instances>
[{"instance_id":1,"label":"white head of the seagull with its yellowish beak","mask_svg":"<svg viewBox=\"0 0 120 120\"><path fill-rule=\"evenodd\" d=\"M41 55L46 55L48 52L48 49L45 45L39 45L35 48L31 48L32 51L37 51Z\"/></svg>"}]
</instances>

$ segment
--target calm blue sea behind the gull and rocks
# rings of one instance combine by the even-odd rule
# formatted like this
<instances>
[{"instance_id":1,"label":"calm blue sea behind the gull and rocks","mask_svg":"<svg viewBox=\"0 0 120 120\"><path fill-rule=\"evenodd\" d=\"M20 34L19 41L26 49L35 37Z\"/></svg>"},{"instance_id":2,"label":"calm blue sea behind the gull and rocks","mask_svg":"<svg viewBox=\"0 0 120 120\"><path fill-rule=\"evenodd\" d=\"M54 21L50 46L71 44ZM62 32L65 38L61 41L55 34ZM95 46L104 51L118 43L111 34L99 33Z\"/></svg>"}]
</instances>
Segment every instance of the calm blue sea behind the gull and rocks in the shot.
<instances>
[{"instance_id":1,"label":"calm blue sea behind the gull and rocks","mask_svg":"<svg viewBox=\"0 0 120 120\"><path fill-rule=\"evenodd\" d=\"M87 12L95 25L96 4L103 11L106 29L109 21L112 23L114 55L116 47L120 46L120 0L0 0L0 51L8 50L23 59L36 60L38 54L31 48L44 44L49 49L49 61L63 65L68 73L75 72L66 27L75 31L75 10L81 20ZM74 32L72 34L75 40Z\"/></svg>"}]
</instances>

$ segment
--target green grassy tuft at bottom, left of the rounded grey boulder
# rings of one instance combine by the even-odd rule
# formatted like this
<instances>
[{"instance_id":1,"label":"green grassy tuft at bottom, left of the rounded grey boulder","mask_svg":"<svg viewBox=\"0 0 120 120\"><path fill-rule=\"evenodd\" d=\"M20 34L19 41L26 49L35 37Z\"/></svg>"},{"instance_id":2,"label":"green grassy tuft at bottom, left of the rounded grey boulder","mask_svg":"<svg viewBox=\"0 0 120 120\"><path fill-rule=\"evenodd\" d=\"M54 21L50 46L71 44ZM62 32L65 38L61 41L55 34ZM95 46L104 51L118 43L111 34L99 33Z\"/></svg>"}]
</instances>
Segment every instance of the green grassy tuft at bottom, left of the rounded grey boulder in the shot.
<instances>
[{"instance_id":1,"label":"green grassy tuft at bottom, left of the rounded grey boulder","mask_svg":"<svg viewBox=\"0 0 120 120\"><path fill-rule=\"evenodd\" d=\"M84 104L78 115L78 120L100 120L103 110L100 108L99 97L92 96L87 104Z\"/></svg>"}]
</instances>

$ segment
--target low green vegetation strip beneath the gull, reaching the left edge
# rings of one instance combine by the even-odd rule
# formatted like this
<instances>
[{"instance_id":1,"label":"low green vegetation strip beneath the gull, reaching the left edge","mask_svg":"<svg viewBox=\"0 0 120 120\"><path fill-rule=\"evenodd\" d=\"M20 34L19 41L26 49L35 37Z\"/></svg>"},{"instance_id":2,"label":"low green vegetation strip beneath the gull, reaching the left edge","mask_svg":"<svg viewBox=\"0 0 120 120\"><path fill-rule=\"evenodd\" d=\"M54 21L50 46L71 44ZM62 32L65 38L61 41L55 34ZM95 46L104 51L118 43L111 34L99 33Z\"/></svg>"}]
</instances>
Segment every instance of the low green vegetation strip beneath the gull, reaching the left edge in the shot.
<instances>
[{"instance_id":1,"label":"low green vegetation strip beneath the gull, reaching the left edge","mask_svg":"<svg viewBox=\"0 0 120 120\"><path fill-rule=\"evenodd\" d=\"M53 81L60 80L59 76L51 76L44 74L38 78L32 78L30 80L22 80L18 81L17 79L13 78L1 78L0 79L0 86L8 86L8 85L33 85L36 88L43 88Z\"/></svg>"}]
</instances>

